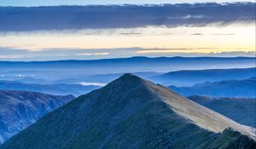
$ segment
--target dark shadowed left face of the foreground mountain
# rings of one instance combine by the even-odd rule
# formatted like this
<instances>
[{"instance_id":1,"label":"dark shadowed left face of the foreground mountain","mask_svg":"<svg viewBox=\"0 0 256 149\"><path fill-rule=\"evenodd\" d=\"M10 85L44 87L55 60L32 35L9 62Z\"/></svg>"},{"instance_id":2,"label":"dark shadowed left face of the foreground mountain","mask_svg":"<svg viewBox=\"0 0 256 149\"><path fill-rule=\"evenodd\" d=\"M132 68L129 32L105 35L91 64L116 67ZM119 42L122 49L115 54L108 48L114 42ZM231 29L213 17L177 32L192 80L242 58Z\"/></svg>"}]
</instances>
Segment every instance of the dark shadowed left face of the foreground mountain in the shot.
<instances>
[{"instance_id":1,"label":"dark shadowed left face of the foreground mountain","mask_svg":"<svg viewBox=\"0 0 256 149\"><path fill-rule=\"evenodd\" d=\"M49 113L0 148L205 148L218 136L177 115L141 79L123 77Z\"/></svg>"}]
</instances>

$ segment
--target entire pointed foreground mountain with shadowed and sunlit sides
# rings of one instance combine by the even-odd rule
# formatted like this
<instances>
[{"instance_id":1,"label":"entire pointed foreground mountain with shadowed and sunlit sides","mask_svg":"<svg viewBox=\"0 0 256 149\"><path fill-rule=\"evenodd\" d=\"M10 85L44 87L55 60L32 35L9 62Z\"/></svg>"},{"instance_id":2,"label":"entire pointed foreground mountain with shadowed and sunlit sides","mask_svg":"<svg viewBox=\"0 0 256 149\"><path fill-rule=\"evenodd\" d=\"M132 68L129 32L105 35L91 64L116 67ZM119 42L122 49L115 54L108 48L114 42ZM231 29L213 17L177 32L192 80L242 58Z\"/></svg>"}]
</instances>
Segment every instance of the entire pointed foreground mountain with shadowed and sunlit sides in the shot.
<instances>
[{"instance_id":1,"label":"entire pointed foreground mountain with shadowed and sunlit sides","mask_svg":"<svg viewBox=\"0 0 256 149\"><path fill-rule=\"evenodd\" d=\"M253 148L254 135L166 87L125 74L50 112L0 148Z\"/></svg>"}]
</instances>

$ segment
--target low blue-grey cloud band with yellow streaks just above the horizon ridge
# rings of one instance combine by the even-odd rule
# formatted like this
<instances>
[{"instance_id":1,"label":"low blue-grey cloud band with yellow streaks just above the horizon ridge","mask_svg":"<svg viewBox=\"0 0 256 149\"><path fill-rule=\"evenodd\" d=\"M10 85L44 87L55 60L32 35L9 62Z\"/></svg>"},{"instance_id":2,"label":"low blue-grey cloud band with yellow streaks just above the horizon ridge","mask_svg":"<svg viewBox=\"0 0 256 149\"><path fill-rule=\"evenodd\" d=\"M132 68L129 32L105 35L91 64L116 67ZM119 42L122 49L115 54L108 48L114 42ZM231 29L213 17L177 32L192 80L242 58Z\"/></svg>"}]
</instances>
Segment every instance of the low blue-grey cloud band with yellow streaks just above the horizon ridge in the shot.
<instances>
[{"instance_id":1,"label":"low blue-grey cloud band with yellow streaks just above the horizon ridge","mask_svg":"<svg viewBox=\"0 0 256 149\"><path fill-rule=\"evenodd\" d=\"M30 51L26 49L11 49L0 47L0 60L96 60L110 59L131 56L216 56L216 57L234 57L246 56L255 57L254 51L245 51L245 49L227 49L232 52L200 52L200 51L220 51L217 47L199 47L199 48L173 48L173 49L143 49L143 48L117 48L117 49L41 49Z\"/></svg>"}]
</instances>

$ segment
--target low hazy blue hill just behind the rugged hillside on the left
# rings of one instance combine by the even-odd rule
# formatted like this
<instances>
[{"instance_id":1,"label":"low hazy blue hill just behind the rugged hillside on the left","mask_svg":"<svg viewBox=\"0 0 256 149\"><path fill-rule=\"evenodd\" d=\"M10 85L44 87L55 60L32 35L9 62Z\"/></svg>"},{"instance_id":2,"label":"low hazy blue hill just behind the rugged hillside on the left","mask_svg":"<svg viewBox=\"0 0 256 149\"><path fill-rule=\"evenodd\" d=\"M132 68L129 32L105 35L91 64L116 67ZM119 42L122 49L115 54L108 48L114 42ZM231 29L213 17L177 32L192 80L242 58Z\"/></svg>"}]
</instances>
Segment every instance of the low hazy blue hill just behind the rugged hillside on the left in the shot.
<instances>
[{"instance_id":1,"label":"low hazy blue hill just behind the rugged hillside on the left","mask_svg":"<svg viewBox=\"0 0 256 149\"><path fill-rule=\"evenodd\" d=\"M98 86L81 84L37 84L37 83L20 83L15 81L0 81L0 89L9 90L22 90L41 92L50 95L83 95L90 92L93 89L98 89Z\"/></svg>"}]
</instances>

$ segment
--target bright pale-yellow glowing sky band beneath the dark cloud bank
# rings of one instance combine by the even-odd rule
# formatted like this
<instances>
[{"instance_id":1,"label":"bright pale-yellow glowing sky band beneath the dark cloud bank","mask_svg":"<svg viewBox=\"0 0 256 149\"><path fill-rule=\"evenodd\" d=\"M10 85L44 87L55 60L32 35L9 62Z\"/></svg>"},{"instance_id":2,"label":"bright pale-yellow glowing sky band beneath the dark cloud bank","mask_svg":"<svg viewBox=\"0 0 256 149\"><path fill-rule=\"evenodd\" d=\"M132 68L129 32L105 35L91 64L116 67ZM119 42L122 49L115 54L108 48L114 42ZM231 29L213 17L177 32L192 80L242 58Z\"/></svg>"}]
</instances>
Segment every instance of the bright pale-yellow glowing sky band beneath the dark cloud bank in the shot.
<instances>
[{"instance_id":1,"label":"bright pale-yellow glowing sky band beneath the dark cloud bank","mask_svg":"<svg viewBox=\"0 0 256 149\"><path fill-rule=\"evenodd\" d=\"M221 27L180 26L168 28L165 26L148 26L131 29L9 32L0 36L0 45L30 51L139 47L151 50L138 51L138 53L247 52L255 50L255 34L253 31L255 32L253 24L235 24Z\"/></svg>"}]
</instances>

